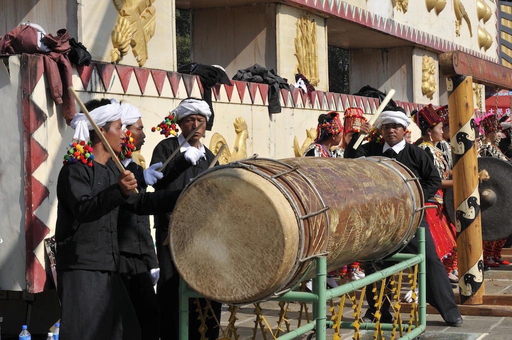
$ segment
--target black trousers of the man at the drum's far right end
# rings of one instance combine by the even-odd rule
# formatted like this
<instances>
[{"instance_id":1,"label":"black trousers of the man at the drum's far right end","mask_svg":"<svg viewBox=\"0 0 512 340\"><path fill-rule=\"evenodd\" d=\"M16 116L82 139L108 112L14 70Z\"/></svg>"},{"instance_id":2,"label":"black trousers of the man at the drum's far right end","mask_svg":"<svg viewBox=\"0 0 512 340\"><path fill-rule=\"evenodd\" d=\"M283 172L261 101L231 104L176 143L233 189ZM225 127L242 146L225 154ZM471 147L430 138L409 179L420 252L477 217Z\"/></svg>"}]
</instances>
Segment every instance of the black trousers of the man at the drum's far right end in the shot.
<instances>
[{"instance_id":1,"label":"black trousers of the man at the drum's far right end","mask_svg":"<svg viewBox=\"0 0 512 340\"><path fill-rule=\"evenodd\" d=\"M420 227L425 228L425 261L426 261L426 302L439 311L443 320L447 324L451 324L460 317L459 307L455 303L455 295L453 293L452 285L446 275L446 269L439 257L437 256L434 240L430 233L429 224L426 223L425 218L420 223ZM405 253L418 253L418 239L414 237L402 250ZM372 263L365 263L365 273L371 274L376 270L387 268L391 266L392 262L378 261ZM366 299L369 310L375 313L375 300L372 293L373 284L366 287ZM377 283L377 291L380 289L380 283ZM382 303L380 312L382 317L390 315L390 303L385 299ZM367 314L368 315L368 314Z\"/></svg>"}]
</instances>

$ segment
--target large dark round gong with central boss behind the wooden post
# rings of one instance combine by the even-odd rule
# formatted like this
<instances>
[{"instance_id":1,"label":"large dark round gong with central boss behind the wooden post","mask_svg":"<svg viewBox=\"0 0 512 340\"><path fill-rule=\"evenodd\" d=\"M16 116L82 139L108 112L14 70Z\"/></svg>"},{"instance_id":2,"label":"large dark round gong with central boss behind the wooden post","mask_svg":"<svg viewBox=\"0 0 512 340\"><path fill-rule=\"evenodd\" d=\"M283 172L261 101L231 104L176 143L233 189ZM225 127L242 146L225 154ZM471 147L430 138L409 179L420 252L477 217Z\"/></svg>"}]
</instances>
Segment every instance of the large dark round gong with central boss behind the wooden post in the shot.
<instances>
[{"instance_id":1,"label":"large dark round gong with central boss behind the wooden post","mask_svg":"<svg viewBox=\"0 0 512 340\"><path fill-rule=\"evenodd\" d=\"M480 157L478 158L478 171L480 172L483 169L489 173L490 178L478 185L482 217L482 240L500 240L512 234L512 216L509 213L511 210L506 206L508 202L512 202L512 187L509 185L509 178L512 176L512 165L499 158ZM485 200L484 195L482 195L484 190L492 190L492 199ZM488 191L485 193L488 193ZM444 206L450 220L455 224L452 188L446 189Z\"/></svg>"}]
</instances>

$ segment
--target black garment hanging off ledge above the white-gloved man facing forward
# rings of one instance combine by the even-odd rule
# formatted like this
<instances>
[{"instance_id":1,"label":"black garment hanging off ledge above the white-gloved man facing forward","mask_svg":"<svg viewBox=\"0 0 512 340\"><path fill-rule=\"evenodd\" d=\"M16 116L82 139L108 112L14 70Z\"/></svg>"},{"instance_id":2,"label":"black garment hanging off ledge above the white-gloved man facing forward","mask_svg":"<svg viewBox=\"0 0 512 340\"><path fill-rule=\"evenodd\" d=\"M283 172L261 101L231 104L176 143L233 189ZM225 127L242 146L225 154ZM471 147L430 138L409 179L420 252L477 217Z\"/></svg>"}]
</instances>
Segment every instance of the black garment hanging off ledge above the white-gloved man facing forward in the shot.
<instances>
[{"instance_id":1,"label":"black garment hanging off ledge above the white-gloved man facing forward","mask_svg":"<svg viewBox=\"0 0 512 340\"><path fill-rule=\"evenodd\" d=\"M221 70L218 67L203 65L198 62L189 62L185 65L182 65L178 68L179 73L185 74L194 74L199 76L201 79L201 84L203 85L203 99L206 101L211 110L211 117L209 121L206 123L206 130L210 130L214 125L214 107L211 104L211 88L214 87L215 84L221 83L229 86L233 86L226 72Z\"/></svg>"}]
</instances>

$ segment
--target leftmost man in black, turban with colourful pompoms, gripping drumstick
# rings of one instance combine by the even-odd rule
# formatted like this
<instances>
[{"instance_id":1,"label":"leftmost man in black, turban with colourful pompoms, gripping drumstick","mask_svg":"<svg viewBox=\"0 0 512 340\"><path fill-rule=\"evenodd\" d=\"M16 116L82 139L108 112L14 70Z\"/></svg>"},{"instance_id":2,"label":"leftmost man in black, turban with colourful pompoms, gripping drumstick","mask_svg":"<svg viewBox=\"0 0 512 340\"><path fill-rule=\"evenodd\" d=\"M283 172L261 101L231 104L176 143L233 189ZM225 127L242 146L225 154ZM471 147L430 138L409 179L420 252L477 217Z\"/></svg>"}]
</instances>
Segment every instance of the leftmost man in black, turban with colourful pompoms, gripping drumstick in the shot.
<instances>
[{"instance_id":1,"label":"leftmost man in black, turban with colourful pompoms, gripping drumstick","mask_svg":"<svg viewBox=\"0 0 512 340\"><path fill-rule=\"evenodd\" d=\"M134 174L120 172L111 155L111 151L120 153L125 136L119 103L92 100L85 108L92 122L83 113L72 120L74 142L57 181L60 336L140 339L137 318L119 275L118 209L126 205L138 214L162 213L173 208L177 195L166 191L134 194Z\"/></svg>"}]
</instances>

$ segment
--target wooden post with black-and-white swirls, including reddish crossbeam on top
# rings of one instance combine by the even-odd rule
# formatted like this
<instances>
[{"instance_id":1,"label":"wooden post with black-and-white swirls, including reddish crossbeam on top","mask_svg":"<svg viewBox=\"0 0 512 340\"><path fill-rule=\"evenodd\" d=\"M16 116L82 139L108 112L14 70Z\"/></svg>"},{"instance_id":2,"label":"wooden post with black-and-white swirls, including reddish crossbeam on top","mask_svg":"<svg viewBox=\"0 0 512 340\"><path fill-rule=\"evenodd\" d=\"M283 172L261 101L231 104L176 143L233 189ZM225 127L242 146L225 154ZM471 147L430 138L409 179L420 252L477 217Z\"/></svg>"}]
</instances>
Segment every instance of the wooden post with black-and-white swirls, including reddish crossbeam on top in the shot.
<instances>
[{"instance_id":1,"label":"wooden post with black-and-white swirls, including reddish crossbeam on top","mask_svg":"<svg viewBox=\"0 0 512 340\"><path fill-rule=\"evenodd\" d=\"M439 55L439 73L447 78L453 151L455 223L459 237L460 303L483 303L483 256L478 163L475 145L473 81L512 90L512 73L497 63L462 51Z\"/></svg>"}]
</instances>

